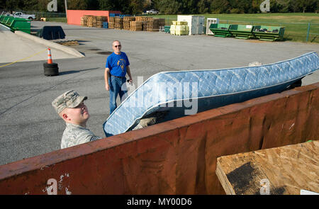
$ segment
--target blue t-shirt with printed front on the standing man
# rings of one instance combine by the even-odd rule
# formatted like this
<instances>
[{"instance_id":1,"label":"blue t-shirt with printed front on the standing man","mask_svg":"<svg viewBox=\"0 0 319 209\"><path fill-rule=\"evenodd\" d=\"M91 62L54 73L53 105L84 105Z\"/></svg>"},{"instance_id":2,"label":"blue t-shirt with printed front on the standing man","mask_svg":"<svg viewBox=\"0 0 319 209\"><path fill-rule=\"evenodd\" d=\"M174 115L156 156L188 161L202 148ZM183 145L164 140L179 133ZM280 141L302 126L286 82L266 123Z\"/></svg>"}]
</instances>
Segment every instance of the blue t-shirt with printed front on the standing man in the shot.
<instances>
[{"instance_id":1,"label":"blue t-shirt with printed front on the standing man","mask_svg":"<svg viewBox=\"0 0 319 209\"><path fill-rule=\"evenodd\" d=\"M106 59L105 67L110 69L110 73L116 77L125 77L126 67L130 65L128 62L128 56L125 52L121 52L121 55L116 55L114 52Z\"/></svg>"}]
</instances>

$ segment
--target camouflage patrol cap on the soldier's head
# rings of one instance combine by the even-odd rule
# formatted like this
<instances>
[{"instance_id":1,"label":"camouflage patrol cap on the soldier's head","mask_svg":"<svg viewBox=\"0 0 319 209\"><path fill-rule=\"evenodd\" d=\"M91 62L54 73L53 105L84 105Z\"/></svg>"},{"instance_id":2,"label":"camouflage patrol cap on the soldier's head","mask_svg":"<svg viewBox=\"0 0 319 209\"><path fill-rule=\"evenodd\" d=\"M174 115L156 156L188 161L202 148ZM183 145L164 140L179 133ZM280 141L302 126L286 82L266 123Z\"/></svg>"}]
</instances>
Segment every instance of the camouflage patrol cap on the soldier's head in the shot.
<instances>
[{"instance_id":1,"label":"camouflage patrol cap on the soldier's head","mask_svg":"<svg viewBox=\"0 0 319 209\"><path fill-rule=\"evenodd\" d=\"M82 101L86 100L87 96L79 96L77 91L67 91L52 101L52 106L57 113L61 113L65 108L75 108L79 106Z\"/></svg>"}]
</instances>

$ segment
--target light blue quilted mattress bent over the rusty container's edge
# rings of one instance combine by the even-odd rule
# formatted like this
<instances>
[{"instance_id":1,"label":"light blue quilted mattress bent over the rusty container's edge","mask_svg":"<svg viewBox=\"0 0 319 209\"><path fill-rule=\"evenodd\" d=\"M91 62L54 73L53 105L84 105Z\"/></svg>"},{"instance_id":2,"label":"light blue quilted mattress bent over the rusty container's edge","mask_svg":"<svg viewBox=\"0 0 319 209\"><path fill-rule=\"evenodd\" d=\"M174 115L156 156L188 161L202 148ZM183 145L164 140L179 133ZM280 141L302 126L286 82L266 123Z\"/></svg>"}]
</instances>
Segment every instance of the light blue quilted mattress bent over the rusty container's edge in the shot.
<instances>
[{"instance_id":1,"label":"light blue quilted mattress bent over the rusty container's edge","mask_svg":"<svg viewBox=\"0 0 319 209\"><path fill-rule=\"evenodd\" d=\"M103 123L106 137L133 130L140 119L165 111L180 118L251 98L274 94L319 69L319 57L300 57L257 67L160 72L147 79Z\"/></svg>"}]
</instances>

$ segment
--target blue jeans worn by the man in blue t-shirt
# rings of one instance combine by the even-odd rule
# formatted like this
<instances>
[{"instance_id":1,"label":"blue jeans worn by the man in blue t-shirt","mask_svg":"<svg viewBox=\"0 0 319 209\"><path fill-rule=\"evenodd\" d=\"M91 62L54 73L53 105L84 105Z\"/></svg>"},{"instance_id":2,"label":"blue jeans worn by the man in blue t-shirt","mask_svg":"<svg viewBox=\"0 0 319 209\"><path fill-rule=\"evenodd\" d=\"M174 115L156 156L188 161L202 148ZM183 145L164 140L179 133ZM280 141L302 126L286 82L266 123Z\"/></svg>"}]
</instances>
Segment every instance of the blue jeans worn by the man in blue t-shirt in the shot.
<instances>
[{"instance_id":1,"label":"blue jeans worn by the man in blue t-shirt","mask_svg":"<svg viewBox=\"0 0 319 209\"><path fill-rule=\"evenodd\" d=\"M121 102L126 98L126 94L128 93L128 89L126 87L126 78L118 78L109 76L108 84L110 86L110 115L115 111L118 107L116 105L116 98L118 94L120 95Z\"/></svg>"}]
</instances>

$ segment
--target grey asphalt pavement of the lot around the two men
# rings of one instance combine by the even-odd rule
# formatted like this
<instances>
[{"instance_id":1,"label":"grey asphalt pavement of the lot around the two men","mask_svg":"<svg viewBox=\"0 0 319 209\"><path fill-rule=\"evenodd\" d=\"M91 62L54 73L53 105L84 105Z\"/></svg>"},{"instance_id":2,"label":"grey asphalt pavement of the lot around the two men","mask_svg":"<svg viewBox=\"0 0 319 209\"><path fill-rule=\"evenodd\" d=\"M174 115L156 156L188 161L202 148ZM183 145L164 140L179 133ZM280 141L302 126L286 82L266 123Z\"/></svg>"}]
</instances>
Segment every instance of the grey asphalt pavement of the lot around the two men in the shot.
<instances>
[{"instance_id":1,"label":"grey asphalt pavement of the lot around the two men","mask_svg":"<svg viewBox=\"0 0 319 209\"><path fill-rule=\"evenodd\" d=\"M52 51L53 62L59 65L60 75L56 77L44 76L43 60L23 60L13 64L10 64L11 60L1 60L0 164L60 149L65 123L55 113L51 102L71 89L88 96L85 103L91 118L87 127L96 135L105 137L102 125L108 118L109 98L103 74L113 40L120 40L123 52L128 55L136 87L162 71L246 67L254 61L270 64L307 52L319 52L319 45L313 43L272 43L212 35L176 36L163 32L86 28L40 21L31 22L31 26L33 32L43 26L62 26L67 40L79 42L79 45L70 47L85 57L59 58L64 52ZM0 31L0 41L2 38L4 35ZM35 43L23 41L28 43L29 48L21 47L21 50L30 52ZM12 54L16 54L16 50L2 50L1 47L0 57ZM319 71L305 77L303 85L318 81Z\"/></svg>"}]
</instances>

